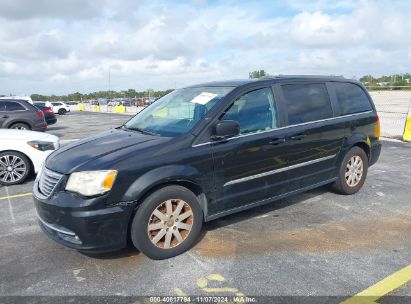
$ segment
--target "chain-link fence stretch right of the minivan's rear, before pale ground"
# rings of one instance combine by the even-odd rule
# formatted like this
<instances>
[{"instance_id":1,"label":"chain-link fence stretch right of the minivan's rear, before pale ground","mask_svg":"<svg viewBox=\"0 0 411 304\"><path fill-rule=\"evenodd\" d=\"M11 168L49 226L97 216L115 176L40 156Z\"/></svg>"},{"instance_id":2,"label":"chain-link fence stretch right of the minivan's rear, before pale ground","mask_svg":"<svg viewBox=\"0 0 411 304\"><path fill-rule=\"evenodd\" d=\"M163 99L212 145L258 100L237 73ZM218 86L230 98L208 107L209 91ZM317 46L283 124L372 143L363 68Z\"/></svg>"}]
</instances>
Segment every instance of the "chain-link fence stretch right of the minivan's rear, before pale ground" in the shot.
<instances>
[{"instance_id":1,"label":"chain-link fence stretch right of the minivan's rear, before pale ground","mask_svg":"<svg viewBox=\"0 0 411 304\"><path fill-rule=\"evenodd\" d=\"M381 122L381 136L402 139L408 111L411 106L411 90L369 91Z\"/></svg>"}]
</instances>

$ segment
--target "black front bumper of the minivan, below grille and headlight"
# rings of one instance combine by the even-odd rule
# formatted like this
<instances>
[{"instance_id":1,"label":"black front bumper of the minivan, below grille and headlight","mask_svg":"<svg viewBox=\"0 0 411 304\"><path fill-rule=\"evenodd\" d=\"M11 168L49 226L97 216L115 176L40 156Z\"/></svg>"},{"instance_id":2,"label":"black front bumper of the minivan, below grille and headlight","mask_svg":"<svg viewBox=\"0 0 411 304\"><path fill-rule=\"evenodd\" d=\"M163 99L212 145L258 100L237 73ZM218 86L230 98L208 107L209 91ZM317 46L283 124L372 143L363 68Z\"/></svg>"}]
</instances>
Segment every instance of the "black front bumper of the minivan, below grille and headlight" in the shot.
<instances>
[{"instance_id":1,"label":"black front bumper of the minivan, below grille and headlight","mask_svg":"<svg viewBox=\"0 0 411 304\"><path fill-rule=\"evenodd\" d=\"M36 191L33 192L39 225L44 233L59 244L90 253L127 246L133 208L106 206L105 198L83 199L74 193L61 191L50 199L41 199L36 196Z\"/></svg>"}]
</instances>

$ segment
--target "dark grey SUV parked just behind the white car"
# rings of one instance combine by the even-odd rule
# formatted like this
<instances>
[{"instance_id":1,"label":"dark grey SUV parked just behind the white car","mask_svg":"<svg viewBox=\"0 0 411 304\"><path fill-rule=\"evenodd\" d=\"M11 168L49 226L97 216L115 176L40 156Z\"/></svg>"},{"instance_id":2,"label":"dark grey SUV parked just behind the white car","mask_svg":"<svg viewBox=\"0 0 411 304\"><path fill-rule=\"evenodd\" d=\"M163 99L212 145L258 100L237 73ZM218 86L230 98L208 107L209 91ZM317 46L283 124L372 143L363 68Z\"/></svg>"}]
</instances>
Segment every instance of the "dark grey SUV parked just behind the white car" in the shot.
<instances>
[{"instance_id":1,"label":"dark grey SUV parked just behind the white car","mask_svg":"<svg viewBox=\"0 0 411 304\"><path fill-rule=\"evenodd\" d=\"M45 131L44 113L25 100L0 99L0 128Z\"/></svg>"}]
</instances>

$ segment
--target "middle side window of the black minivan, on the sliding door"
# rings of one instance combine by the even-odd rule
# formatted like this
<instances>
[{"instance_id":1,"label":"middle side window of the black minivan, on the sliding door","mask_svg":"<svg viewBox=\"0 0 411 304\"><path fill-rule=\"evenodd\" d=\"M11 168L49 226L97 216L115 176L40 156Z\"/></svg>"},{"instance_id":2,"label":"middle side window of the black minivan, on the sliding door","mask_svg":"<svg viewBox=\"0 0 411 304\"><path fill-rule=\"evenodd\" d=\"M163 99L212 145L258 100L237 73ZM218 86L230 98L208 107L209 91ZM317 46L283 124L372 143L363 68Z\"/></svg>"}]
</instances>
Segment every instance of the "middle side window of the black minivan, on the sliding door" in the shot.
<instances>
[{"instance_id":1,"label":"middle side window of the black minivan, on the sliding door","mask_svg":"<svg viewBox=\"0 0 411 304\"><path fill-rule=\"evenodd\" d=\"M331 101L323 83L281 86L288 115L288 125L333 117Z\"/></svg>"}]
</instances>

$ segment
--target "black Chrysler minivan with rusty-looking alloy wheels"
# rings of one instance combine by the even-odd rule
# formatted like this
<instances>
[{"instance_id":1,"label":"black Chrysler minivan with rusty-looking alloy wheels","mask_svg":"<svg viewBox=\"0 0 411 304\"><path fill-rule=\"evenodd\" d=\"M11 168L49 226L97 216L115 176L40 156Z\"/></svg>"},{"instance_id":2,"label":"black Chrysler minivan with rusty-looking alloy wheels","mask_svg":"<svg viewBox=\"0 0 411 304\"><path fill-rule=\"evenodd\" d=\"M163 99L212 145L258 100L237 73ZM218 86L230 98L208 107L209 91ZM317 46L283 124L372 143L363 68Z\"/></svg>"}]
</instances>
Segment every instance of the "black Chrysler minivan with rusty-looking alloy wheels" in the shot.
<instances>
[{"instance_id":1,"label":"black Chrysler minivan with rusty-looking alloy wheels","mask_svg":"<svg viewBox=\"0 0 411 304\"><path fill-rule=\"evenodd\" d=\"M39 223L84 252L189 249L202 223L325 184L356 193L380 123L357 81L278 76L177 89L123 126L69 144L34 185Z\"/></svg>"}]
</instances>

